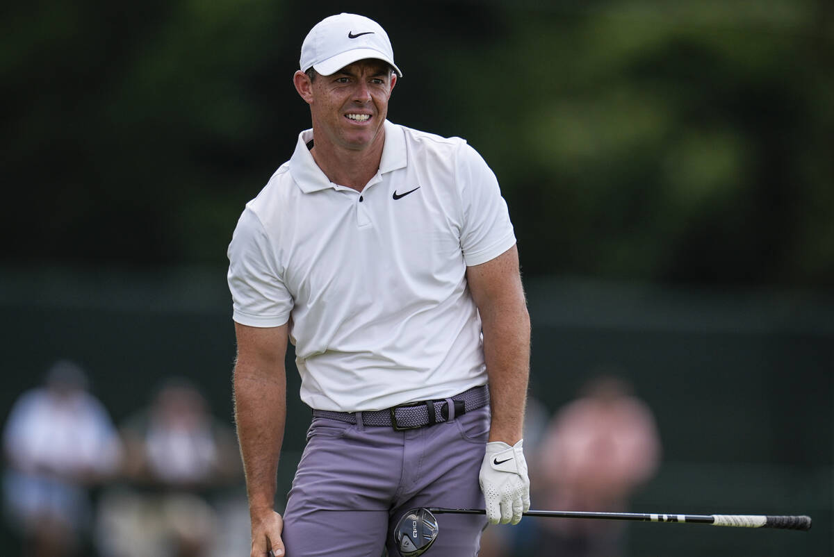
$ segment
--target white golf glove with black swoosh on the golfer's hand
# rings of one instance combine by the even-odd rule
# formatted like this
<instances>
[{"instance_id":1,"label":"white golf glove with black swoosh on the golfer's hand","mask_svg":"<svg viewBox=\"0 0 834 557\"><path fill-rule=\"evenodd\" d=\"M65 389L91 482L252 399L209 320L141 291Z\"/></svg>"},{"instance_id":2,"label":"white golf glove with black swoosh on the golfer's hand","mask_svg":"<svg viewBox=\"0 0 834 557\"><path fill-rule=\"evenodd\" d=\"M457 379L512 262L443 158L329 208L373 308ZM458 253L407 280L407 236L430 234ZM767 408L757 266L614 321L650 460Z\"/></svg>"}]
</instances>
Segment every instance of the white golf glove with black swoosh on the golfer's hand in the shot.
<instances>
[{"instance_id":1,"label":"white golf glove with black swoosh on the golfer's hand","mask_svg":"<svg viewBox=\"0 0 834 557\"><path fill-rule=\"evenodd\" d=\"M522 444L510 447L502 441L486 444L480 464L480 490L486 501L486 518L492 524L518 524L521 513L530 510L530 478Z\"/></svg>"}]
</instances>

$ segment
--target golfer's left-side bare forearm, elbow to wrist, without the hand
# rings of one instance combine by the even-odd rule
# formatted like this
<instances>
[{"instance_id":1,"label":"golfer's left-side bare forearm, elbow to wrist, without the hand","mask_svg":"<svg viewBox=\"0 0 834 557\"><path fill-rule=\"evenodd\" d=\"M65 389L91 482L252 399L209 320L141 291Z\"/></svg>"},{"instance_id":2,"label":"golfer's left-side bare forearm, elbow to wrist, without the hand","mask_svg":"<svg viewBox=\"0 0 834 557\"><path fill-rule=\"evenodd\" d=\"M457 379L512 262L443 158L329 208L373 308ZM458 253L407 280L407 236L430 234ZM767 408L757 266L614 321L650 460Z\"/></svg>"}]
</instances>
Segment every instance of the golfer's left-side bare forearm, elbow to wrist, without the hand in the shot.
<instances>
[{"instance_id":1,"label":"golfer's left-side bare forearm, elbow to wrist, without the hand","mask_svg":"<svg viewBox=\"0 0 834 557\"><path fill-rule=\"evenodd\" d=\"M239 359L234 368L234 415L249 508L273 509L286 422L284 362Z\"/></svg>"}]
</instances>

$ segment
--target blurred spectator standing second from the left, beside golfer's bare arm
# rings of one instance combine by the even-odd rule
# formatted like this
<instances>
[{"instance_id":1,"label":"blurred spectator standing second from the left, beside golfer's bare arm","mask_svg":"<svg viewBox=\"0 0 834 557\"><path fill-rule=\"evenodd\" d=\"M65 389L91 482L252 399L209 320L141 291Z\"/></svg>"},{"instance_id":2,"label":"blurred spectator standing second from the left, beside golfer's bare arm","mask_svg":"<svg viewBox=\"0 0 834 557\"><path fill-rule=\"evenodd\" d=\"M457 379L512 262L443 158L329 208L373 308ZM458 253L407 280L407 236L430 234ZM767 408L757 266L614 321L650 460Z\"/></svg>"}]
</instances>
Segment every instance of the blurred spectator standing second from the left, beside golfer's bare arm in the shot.
<instances>
[{"instance_id":1,"label":"blurred spectator standing second from the left, beside golfer's bare arm","mask_svg":"<svg viewBox=\"0 0 834 557\"><path fill-rule=\"evenodd\" d=\"M126 484L99 505L106 557L210 554L217 516L209 497L239 479L234 434L208 412L193 384L170 379L123 427ZM245 548L244 548L245 549Z\"/></svg>"}]
</instances>

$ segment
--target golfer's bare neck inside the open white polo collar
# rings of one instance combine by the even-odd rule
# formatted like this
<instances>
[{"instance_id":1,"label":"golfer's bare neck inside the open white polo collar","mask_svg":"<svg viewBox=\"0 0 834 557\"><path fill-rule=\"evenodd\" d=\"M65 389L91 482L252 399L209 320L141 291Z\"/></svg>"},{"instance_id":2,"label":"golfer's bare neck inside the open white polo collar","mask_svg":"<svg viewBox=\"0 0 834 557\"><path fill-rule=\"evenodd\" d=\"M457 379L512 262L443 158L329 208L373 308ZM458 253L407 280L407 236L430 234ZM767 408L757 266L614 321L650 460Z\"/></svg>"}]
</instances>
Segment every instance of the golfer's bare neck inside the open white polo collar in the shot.
<instances>
[{"instance_id":1,"label":"golfer's bare neck inside the open white polo collar","mask_svg":"<svg viewBox=\"0 0 834 557\"><path fill-rule=\"evenodd\" d=\"M315 127L313 139L314 145L310 154L330 182L361 192L379 170L385 144L384 128L379 130L373 143L362 149L343 148L329 142L324 133L316 133Z\"/></svg>"}]
</instances>

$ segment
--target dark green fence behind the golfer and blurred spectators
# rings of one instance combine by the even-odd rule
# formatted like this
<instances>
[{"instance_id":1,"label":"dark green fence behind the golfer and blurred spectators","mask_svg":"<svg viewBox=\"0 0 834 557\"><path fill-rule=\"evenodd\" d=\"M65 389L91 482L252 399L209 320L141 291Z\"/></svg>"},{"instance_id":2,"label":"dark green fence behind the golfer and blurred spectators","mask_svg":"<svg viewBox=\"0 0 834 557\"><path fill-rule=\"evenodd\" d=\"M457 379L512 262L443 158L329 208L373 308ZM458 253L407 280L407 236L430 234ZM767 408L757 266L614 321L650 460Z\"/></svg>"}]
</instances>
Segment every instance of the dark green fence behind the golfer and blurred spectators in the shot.
<instances>
[{"instance_id":1,"label":"dark green fence behind the golfer and blurred spectators","mask_svg":"<svg viewBox=\"0 0 834 557\"><path fill-rule=\"evenodd\" d=\"M809 533L630 524L631 554L831 554L834 300L543 279L527 289L534 392L547 409L600 366L615 366L656 414L663 462L633 510L815 519ZM231 422L224 269L7 269L0 319L3 419L54 359L69 358L88 369L117 422L171 375L197 381L214 414ZM284 490L309 421L289 369Z\"/></svg>"}]
</instances>

